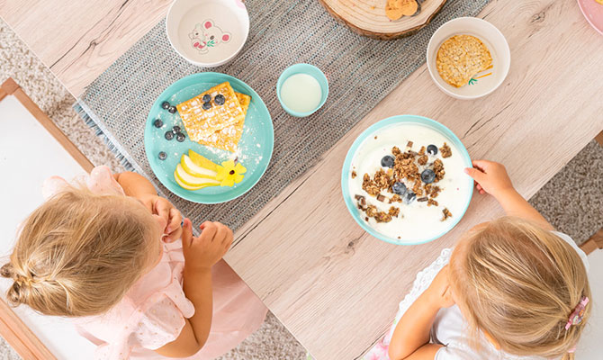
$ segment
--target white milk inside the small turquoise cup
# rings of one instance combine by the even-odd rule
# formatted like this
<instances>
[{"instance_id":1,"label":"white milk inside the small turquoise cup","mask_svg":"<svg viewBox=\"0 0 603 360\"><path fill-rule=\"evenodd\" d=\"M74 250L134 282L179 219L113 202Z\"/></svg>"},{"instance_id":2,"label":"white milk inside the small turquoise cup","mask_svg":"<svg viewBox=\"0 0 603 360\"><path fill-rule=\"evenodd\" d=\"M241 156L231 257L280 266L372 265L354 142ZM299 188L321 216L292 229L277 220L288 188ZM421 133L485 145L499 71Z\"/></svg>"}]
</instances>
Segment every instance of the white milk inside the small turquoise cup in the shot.
<instances>
[{"instance_id":1,"label":"white milk inside the small turquoise cup","mask_svg":"<svg viewBox=\"0 0 603 360\"><path fill-rule=\"evenodd\" d=\"M322 89L314 76L295 74L281 85L281 99L293 112L311 112L320 105Z\"/></svg>"}]
</instances>

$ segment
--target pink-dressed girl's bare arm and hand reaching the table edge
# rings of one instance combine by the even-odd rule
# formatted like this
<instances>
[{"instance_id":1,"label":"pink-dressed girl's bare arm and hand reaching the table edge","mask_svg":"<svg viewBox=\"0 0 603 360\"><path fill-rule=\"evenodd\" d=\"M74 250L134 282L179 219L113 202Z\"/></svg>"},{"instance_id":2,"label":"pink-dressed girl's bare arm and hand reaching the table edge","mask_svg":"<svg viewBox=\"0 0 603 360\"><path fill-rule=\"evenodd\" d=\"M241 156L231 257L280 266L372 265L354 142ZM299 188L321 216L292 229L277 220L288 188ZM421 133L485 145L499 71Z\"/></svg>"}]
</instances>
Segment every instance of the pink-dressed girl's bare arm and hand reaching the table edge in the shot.
<instances>
[{"instance_id":1,"label":"pink-dressed girl's bare arm and hand reaching the table edge","mask_svg":"<svg viewBox=\"0 0 603 360\"><path fill-rule=\"evenodd\" d=\"M203 222L199 238L193 238L191 220L184 219L184 294L193 302L194 315L186 320L180 336L156 350L169 357L196 354L210 335L212 309L211 266L232 244L232 231L218 222Z\"/></svg>"}]
</instances>

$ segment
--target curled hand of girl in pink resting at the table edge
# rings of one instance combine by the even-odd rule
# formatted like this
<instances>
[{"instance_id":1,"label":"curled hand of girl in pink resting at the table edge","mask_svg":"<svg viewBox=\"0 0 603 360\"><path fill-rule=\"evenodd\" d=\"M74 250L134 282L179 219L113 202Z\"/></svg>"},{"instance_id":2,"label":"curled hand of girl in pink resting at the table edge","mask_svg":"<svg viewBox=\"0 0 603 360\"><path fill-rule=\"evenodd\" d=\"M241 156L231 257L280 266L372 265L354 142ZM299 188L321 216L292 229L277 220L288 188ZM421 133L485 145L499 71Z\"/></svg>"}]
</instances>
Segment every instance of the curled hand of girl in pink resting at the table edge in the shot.
<instances>
[{"instance_id":1,"label":"curled hand of girl in pink resting at the table edge","mask_svg":"<svg viewBox=\"0 0 603 360\"><path fill-rule=\"evenodd\" d=\"M191 220L184 219L182 247L184 266L209 270L229 250L232 244L232 230L220 222L205 221L199 227L199 238L193 237Z\"/></svg>"}]
</instances>

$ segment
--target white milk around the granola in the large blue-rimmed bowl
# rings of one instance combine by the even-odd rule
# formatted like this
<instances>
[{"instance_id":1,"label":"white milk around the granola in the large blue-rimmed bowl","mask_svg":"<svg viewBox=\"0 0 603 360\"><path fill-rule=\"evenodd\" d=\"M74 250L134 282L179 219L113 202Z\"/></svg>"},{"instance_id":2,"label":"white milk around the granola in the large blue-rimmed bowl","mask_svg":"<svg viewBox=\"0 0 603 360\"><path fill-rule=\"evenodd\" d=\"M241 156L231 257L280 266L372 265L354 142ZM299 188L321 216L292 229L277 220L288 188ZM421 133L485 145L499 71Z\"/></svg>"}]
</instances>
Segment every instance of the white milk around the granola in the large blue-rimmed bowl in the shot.
<instances>
[{"instance_id":1,"label":"white milk around the granola in the large blue-rimmed bowl","mask_svg":"<svg viewBox=\"0 0 603 360\"><path fill-rule=\"evenodd\" d=\"M374 139L374 136L377 136L377 139ZM417 152L421 146L427 148L430 144L434 144L438 148L437 155L429 156L428 160L428 163L431 163L437 158L441 159L446 171L446 175L442 180L433 183L442 189L437 198L434 199L438 202L438 206L428 206L427 202L417 202L416 200L410 204L405 202L380 202L362 189L365 173L373 177L374 173L382 168L382 157L392 155L393 146L397 146L402 152L406 151L406 144L409 141L414 143L411 149ZM447 158L443 158L439 151L445 141L452 149L452 156ZM373 218L369 218L368 223L373 229L394 239L400 237L401 243L404 243L405 240L409 242L426 241L452 229L452 225L462 215L466 199L469 197L469 193L473 192L473 183L467 181L469 175L464 174L464 167L466 166L460 151L437 130L417 124L394 124L377 131L374 135L365 139L365 142L358 148L351 165L357 176L352 179L351 173L349 175L349 196L356 204L354 196L356 194L364 195L366 203L375 205L379 211L387 212L392 205L400 208L403 217L393 217L390 222L378 223ZM419 173L424 168L425 166L419 166ZM409 184L406 180L404 180L404 183L410 189L414 184ZM393 195L386 190L382 193L387 197ZM452 218L441 221L444 208L448 208L452 212ZM356 211L360 210L356 209ZM365 220L365 212L360 212L361 218Z\"/></svg>"}]
</instances>

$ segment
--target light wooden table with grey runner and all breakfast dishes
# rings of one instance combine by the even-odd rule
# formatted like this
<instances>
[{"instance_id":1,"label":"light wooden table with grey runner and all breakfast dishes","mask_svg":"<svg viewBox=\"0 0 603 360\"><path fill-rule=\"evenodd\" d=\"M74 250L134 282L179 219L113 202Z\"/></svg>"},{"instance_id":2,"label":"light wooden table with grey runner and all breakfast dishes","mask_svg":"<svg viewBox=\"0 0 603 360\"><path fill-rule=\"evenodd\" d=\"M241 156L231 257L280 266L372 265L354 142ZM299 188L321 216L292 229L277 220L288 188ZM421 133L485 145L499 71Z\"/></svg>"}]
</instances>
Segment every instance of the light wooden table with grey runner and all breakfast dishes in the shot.
<instances>
[{"instance_id":1,"label":"light wooden table with grey runner and all breakfast dishes","mask_svg":"<svg viewBox=\"0 0 603 360\"><path fill-rule=\"evenodd\" d=\"M316 359L365 358L502 214L472 159L529 198L603 130L599 0L50 3L0 16Z\"/></svg>"}]
</instances>

